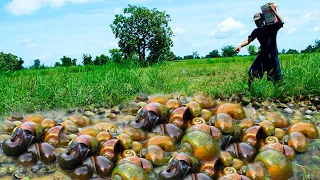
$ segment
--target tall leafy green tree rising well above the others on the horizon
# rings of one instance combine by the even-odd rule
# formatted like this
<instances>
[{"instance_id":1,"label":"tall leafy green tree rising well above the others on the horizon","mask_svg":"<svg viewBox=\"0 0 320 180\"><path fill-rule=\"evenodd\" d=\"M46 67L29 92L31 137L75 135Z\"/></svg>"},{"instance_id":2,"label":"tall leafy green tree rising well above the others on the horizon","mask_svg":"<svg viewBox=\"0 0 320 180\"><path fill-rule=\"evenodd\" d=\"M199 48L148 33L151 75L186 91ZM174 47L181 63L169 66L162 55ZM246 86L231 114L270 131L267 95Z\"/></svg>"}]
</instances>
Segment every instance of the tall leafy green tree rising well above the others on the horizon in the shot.
<instances>
[{"instance_id":1,"label":"tall leafy green tree rising well above the others on the horizon","mask_svg":"<svg viewBox=\"0 0 320 180\"><path fill-rule=\"evenodd\" d=\"M125 58L136 54L139 63L158 62L161 54L170 51L173 32L170 16L157 9L129 5L124 14L117 14L110 25ZM147 55L149 52L149 55Z\"/></svg>"}]
</instances>

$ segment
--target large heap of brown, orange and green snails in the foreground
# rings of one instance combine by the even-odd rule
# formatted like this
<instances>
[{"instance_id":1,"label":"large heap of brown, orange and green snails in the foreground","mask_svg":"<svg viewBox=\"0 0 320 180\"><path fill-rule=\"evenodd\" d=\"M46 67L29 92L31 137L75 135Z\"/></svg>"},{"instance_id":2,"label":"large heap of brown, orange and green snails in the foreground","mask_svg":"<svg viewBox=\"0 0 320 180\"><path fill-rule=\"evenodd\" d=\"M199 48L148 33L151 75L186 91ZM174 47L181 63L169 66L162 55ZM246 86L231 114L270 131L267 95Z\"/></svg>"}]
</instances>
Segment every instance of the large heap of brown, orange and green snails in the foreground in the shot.
<instances>
[{"instance_id":1,"label":"large heap of brown, orange and green snails in the foreground","mask_svg":"<svg viewBox=\"0 0 320 180\"><path fill-rule=\"evenodd\" d=\"M123 126L81 115L5 121L3 132L12 133L2 149L24 166L58 162L73 179L289 179L290 160L308 150L318 129L263 113L253 120L236 103L154 96ZM57 147L67 149L56 155Z\"/></svg>"}]
</instances>

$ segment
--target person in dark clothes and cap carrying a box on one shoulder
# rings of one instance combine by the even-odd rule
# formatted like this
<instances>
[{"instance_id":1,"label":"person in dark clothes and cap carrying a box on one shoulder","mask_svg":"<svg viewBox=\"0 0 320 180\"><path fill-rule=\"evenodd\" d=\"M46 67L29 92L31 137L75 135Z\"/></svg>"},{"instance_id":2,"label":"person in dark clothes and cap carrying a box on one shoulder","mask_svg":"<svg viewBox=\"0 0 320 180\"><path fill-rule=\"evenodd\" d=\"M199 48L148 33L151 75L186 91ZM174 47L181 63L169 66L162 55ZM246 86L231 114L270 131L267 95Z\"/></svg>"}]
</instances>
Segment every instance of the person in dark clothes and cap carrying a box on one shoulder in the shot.
<instances>
[{"instance_id":1,"label":"person in dark clothes and cap carrying a box on one shoulder","mask_svg":"<svg viewBox=\"0 0 320 180\"><path fill-rule=\"evenodd\" d=\"M251 90L251 84L254 78L261 79L265 71L267 72L268 81L273 80L274 83L276 83L282 79L278 59L277 33L278 30L283 27L284 23L276 11L275 5L273 3L269 3L269 6L275 13L278 22L272 25L265 25L263 15L261 13L256 13L253 19L257 28L252 31L247 40L235 49L235 52L240 52L242 47L247 46L256 38L259 40L260 52L248 71L249 91Z\"/></svg>"}]
</instances>

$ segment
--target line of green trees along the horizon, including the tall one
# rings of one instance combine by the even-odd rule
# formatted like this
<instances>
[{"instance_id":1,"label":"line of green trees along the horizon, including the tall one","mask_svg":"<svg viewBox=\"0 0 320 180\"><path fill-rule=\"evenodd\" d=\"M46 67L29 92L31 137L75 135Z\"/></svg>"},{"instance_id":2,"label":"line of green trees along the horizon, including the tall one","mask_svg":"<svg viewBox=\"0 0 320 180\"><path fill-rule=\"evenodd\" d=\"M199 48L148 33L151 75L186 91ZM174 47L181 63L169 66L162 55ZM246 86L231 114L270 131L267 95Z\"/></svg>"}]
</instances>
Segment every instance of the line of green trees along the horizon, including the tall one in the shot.
<instances>
[{"instance_id":1,"label":"line of green trees along the horizon, including the tall one","mask_svg":"<svg viewBox=\"0 0 320 180\"><path fill-rule=\"evenodd\" d=\"M107 63L134 62L139 66L148 66L159 61L204 59L218 57L239 56L234 52L235 47L227 45L214 49L205 56L200 56L197 51L183 57L176 56L172 51L173 32L169 26L170 16L165 11L148 9L146 7L129 5L124 8L123 14L116 14L113 23L110 25L116 39L118 39L119 49L109 50L110 57L101 54L92 57L90 54L83 54L83 65L104 65ZM248 46L249 55L257 55L259 49ZM309 45L301 53L320 52L320 40L316 40L314 45ZM282 50L283 54L298 54L295 49ZM8 72L24 69L22 58L13 54L0 52L0 71ZM76 66L77 59L67 56L60 58L60 62L55 62L54 67ZM34 60L34 64L29 69L43 69L39 59Z\"/></svg>"}]
</instances>

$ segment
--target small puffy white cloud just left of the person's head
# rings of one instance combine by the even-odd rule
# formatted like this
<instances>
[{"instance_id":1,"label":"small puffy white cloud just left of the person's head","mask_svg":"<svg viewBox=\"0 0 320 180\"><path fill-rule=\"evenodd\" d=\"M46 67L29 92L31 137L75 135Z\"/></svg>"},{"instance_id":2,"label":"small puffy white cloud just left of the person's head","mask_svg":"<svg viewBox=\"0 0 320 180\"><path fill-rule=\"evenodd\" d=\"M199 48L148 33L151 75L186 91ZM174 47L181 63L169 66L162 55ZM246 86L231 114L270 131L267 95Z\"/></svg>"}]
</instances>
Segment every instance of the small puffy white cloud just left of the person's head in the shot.
<instances>
[{"instance_id":1,"label":"small puffy white cloud just left of the person's head","mask_svg":"<svg viewBox=\"0 0 320 180\"><path fill-rule=\"evenodd\" d=\"M245 29L245 25L241 23L241 21L235 21L232 17L226 18L224 21L222 21L220 24L218 24L218 29L212 31L209 36L223 39L228 37L228 35L233 34L234 32L237 32L240 35L245 34L247 31Z\"/></svg>"}]
</instances>

